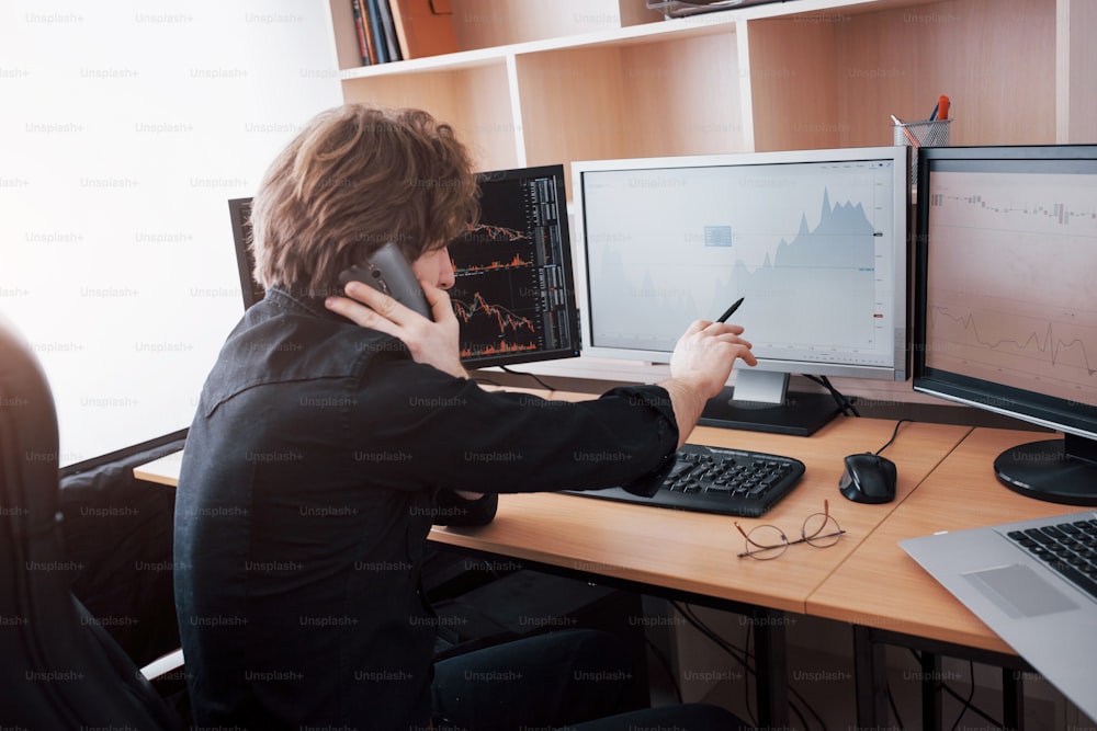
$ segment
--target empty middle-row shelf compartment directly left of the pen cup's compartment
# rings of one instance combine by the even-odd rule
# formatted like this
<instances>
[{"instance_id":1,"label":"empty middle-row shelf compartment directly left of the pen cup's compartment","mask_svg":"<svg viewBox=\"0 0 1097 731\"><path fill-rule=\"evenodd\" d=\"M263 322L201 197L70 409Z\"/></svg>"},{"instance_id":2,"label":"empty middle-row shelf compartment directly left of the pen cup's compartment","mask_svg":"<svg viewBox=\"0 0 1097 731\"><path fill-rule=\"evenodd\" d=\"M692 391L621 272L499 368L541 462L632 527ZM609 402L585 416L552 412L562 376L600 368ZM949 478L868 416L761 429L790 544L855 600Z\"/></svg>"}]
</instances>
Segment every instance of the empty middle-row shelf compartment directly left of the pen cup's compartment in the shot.
<instances>
[{"instance_id":1,"label":"empty middle-row shelf compartment directly left of the pen cup's compartment","mask_svg":"<svg viewBox=\"0 0 1097 731\"><path fill-rule=\"evenodd\" d=\"M734 26L516 58L529 164L746 149Z\"/></svg>"}]
</instances>

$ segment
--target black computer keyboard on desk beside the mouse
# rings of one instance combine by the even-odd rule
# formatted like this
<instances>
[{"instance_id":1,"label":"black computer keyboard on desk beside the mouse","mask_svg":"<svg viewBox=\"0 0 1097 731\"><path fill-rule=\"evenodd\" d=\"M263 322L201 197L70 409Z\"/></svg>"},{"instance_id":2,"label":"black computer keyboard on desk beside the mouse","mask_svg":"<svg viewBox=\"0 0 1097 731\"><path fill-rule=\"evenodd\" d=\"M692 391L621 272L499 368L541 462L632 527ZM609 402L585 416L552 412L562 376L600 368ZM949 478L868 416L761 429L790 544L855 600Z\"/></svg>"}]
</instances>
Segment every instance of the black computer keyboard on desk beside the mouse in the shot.
<instances>
[{"instance_id":1,"label":"black computer keyboard on desk beside the mouse","mask_svg":"<svg viewBox=\"0 0 1097 731\"><path fill-rule=\"evenodd\" d=\"M623 488L575 490L572 494L699 513L757 517L772 507L804 475L804 464L760 452L687 444L655 495Z\"/></svg>"}]
</instances>

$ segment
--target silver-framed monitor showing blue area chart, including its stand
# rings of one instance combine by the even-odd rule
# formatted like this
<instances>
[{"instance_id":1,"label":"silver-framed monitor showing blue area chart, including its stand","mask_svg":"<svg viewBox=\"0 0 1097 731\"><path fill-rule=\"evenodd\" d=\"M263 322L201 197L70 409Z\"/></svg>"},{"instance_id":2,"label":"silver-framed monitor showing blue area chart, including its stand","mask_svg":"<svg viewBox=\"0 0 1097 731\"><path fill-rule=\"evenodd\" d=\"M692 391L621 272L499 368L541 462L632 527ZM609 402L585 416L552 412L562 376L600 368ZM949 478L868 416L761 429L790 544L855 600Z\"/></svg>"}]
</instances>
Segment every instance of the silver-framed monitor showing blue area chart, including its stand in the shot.
<instances>
[{"instance_id":1,"label":"silver-framed monitor showing blue area chart, including its stand","mask_svg":"<svg viewBox=\"0 0 1097 731\"><path fill-rule=\"evenodd\" d=\"M791 374L906 378L908 174L898 146L574 163L584 354L668 362L743 297L758 365L701 423L813 433L840 407Z\"/></svg>"}]
</instances>

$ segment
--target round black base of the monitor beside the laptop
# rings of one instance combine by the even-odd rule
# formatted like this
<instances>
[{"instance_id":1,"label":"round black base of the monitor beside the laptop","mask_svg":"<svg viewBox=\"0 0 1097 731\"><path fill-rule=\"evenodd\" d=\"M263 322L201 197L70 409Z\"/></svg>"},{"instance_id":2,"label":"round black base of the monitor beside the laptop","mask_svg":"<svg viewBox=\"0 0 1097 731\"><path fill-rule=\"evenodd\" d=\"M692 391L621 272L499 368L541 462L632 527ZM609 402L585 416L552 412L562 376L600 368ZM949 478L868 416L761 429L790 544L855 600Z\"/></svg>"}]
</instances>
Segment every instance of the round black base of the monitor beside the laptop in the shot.
<instances>
[{"instance_id":1,"label":"round black base of the monitor beside the laptop","mask_svg":"<svg viewBox=\"0 0 1097 731\"><path fill-rule=\"evenodd\" d=\"M1067 434L1006 449L994 473L1029 498L1067 505L1097 505L1097 441Z\"/></svg>"}]
</instances>

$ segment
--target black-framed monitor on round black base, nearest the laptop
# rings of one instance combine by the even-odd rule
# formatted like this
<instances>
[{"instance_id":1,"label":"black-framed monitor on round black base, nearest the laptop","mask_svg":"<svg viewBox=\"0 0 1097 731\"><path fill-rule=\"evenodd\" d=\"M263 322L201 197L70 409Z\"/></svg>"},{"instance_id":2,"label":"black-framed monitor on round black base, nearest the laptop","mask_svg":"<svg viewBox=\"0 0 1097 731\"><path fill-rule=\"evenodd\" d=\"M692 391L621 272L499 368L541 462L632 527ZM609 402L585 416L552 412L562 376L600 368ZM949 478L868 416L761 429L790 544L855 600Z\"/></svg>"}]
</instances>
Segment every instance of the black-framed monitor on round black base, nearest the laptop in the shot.
<instances>
[{"instance_id":1,"label":"black-framed monitor on round black base, nearest the laptop","mask_svg":"<svg viewBox=\"0 0 1097 731\"><path fill-rule=\"evenodd\" d=\"M994 470L1097 504L1097 146L924 148L917 201L915 390L1062 432Z\"/></svg>"}]
</instances>

